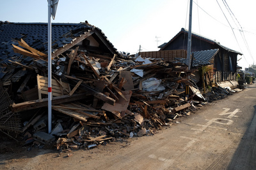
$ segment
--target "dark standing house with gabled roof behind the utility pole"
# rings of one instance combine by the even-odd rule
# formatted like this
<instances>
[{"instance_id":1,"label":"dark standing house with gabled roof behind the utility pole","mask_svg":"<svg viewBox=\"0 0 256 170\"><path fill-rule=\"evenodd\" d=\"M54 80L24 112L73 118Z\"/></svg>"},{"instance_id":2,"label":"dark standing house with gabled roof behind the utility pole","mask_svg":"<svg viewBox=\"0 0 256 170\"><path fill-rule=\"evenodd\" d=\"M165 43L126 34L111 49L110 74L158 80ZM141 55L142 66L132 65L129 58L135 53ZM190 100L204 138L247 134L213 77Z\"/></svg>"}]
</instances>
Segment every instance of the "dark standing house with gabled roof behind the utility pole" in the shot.
<instances>
[{"instance_id":1,"label":"dark standing house with gabled roof behind the utility pole","mask_svg":"<svg viewBox=\"0 0 256 170\"><path fill-rule=\"evenodd\" d=\"M182 28L168 43L159 46L159 51L165 50L186 50L188 48L188 30ZM237 55L243 55L218 41L205 38L192 32L191 34L191 53L193 54L193 66L209 65L212 71L209 71L206 78L210 82L220 82L227 80L236 80Z\"/></svg>"}]
</instances>

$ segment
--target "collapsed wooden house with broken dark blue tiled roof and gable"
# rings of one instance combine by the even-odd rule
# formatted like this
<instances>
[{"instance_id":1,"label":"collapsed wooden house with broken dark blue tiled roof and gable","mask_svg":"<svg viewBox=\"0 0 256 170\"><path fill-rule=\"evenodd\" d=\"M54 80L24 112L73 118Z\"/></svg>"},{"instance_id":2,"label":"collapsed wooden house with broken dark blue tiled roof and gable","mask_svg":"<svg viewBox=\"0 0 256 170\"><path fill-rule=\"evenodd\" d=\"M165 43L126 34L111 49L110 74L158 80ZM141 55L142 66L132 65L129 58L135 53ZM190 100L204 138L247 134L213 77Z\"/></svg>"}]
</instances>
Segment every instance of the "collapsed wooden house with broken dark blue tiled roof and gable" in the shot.
<instances>
[{"instance_id":1,"label":"collapsed wooden house with broken dark blue tiled roof and gable","mask_svg":"<svg viewBox=\"0 0 256 170\"><path fill-rule=\"evenodd\" d=\"M0 25L0 79L3 95L10 96L10 101L14 104L35 101L37 108L47 106L44 98L47 97L47 23L10 23L1 22ZM74 85L70 89L70 84L61 82L60 76L65 71L65 74L72 75L72 71L81 74L86 68L86 61L75 59L77 54L90 55L90 61L99 61L100 63L109 64L114 55L117 54L116 49L110 43L104 33L97 27L85 23L79 24L52 24L52 89L53 96L60 97L59 101L73 101L82 99L86 95L74 94L77 89ZM67 60L66 60L67 58ZM69 62L65 64L66 62ZM77 61L79 60L79 61ZM78 69L72 69L72 62L76 62ZM106 65L106 67L108 67ZM92 73L92 70L90 70ZM57 78L58 77L58 78ZM54 79L55 78L55 79ZM82 74L80 78L90 80L94 79L92 74L86 76ZM108 97L90 90L91 94L97 94L108 101ZM8 94L8 95L7 95ZM74 94L74 96L72 96ZM64 96L64 97L63 97ZM66 97L65 97L66 96ZM4 97L3 97L4 99ZM55 100L55 99L54 99ZM6 99L1 103L5 106ZM33 106L20 104L20 108L13 110L13 113L18 113L23 110L31 110ZM29 103L31 104L31 103ZM17 106L17 105L15 105ZM1 113L1 124L3 129L21 131L20 123L6 125L7 120L10 120L10 113ZM19 119L20 120L20 119ZM21 121L21 120L20 120Z\"/></svg>"}]
</instances>

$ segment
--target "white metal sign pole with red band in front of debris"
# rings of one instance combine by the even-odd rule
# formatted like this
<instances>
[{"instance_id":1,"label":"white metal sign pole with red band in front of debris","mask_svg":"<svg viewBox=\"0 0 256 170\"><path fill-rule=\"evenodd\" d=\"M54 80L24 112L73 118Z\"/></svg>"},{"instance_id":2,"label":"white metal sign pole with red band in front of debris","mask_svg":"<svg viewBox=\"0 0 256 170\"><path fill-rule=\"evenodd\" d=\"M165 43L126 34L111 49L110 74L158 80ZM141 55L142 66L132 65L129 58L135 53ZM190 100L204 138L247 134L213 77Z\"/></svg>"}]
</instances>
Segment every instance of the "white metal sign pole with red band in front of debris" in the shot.
<instances>
[{"instance_id":1,"label":"white metal sign pole with red band in front of debris","mask_svg":"<svg viewBox=\"0 0 256 170\"><path fill-rule=\"evenodd\" d=\"M51 4L48 0L48 133L52 131L52 24L51 24Z\"/></svg>"}]
</instances>

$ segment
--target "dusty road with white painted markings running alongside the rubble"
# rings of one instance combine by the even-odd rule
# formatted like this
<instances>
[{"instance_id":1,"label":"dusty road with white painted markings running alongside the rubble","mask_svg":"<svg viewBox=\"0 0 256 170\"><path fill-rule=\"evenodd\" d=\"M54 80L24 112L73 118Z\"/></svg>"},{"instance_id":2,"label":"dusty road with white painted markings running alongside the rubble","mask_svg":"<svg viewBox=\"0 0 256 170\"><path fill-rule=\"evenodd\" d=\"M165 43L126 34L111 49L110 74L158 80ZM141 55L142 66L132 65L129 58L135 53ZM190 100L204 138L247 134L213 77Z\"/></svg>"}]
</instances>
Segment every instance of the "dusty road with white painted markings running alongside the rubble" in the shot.
<instances>
[{"instance_id":1,"label":"dusty road with white painted markings running alongside the rubble","mask_svg":"<svg viewBox=\"0 0 256 170\"><path fill-rule=\"evenodd\" d=\"M154 136L132 138L72 157L24 152L3 169L256 169L256 85L214 101Z\"/></svg>"}]
</instances>

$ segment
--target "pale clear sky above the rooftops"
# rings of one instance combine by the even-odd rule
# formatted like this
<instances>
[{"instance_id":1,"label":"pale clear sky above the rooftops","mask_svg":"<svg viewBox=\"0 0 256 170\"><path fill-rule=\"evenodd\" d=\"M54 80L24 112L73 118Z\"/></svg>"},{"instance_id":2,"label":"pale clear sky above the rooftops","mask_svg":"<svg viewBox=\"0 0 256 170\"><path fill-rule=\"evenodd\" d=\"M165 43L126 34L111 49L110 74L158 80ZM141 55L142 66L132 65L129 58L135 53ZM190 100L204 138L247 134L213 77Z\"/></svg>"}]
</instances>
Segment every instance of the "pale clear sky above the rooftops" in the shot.
<instances>
[{"instance_id":1,"label":"pale clear sky above the rooftops","mask_svg":"<svg viewBox=\"0 0 256 170\"><path fill-rule=\"evenodd\" d=\"M223 1L227 2L236 18L230 17ZM244 69L253 62L256 64L256 1L223 1L195 0L192 31L244 53L238 56L238 59L242 57L238 65ZM236 37L217 2L234 28ZM60 0L56 19L52 22L79 23L88 20L102 29L118 51L136 53L140 45L143 51L154 51L158 50L157 45L168 42L182 27L188 29L188 4L188 0ZM47 22L47 1L2 1L0 20ZM241 27L236 20L243 27L243 32L238 31Z\"/></svg>"}]
</instances>

